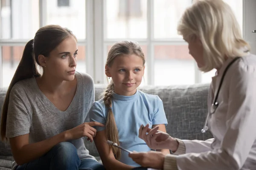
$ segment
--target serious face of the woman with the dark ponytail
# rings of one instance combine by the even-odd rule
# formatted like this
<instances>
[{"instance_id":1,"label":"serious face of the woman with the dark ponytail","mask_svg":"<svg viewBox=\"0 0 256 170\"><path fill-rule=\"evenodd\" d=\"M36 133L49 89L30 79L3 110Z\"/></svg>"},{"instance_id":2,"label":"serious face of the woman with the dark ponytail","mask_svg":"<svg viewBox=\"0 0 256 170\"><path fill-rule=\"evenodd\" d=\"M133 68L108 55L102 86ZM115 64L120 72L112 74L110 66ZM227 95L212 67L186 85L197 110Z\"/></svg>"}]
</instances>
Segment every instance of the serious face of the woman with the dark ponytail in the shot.
<instances>
[{"instance_id":1,"label":"serious face of the woman with the dark ponytail","mask_svg":"<svg viewBox=\"0 0 256 170\"><path fill-rule=\"evenodd\" d=\"M73 36L65 39L44 57L44 74L64 81L72 81L76 71L77 43ZM44 66L44 65L43 65Z\"/></svg>"}]
</instances>

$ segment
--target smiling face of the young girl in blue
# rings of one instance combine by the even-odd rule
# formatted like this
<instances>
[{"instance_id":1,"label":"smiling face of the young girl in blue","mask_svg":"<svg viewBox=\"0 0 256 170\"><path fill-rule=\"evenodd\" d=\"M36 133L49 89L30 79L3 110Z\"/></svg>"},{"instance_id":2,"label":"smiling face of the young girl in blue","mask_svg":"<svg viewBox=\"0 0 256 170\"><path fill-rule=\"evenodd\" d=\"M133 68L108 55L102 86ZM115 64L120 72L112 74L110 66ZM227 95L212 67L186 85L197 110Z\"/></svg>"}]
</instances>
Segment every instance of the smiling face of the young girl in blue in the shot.
<instances>
[{"instance_id":1,"label":"smiling face of the young girl in blue","mask_svg":"<svg viewBox=\"0 0 256 170\"><path fill-rule=\"evenodd\" d=\"M135 54L116 57L110 67L106 65L106 75L112 77L115 93L131 96L140 85L145 65L143 59Z\"/></svg>"}]
</instances>

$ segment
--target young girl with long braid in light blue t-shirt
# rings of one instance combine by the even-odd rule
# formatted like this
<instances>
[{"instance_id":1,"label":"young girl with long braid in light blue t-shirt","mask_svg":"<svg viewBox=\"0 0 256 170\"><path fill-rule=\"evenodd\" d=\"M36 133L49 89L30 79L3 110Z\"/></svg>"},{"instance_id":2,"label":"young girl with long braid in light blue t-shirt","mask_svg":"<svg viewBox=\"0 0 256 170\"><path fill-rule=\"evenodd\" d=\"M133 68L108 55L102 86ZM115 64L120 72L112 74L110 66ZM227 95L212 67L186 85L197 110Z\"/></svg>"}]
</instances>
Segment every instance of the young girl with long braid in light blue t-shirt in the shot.
<instances>
[{"instance_id":1,"label":"young girl with long braid in light blue t-shirt","mask_svg":"<svg viewBox=\"0 0 256 170\"><path fill-rule=\"evenodd\" d=\"M131 151L149 151L147 144L138 137L140 126L159 126L166 132L167 119L161 99L137 90L144 69L144 54L137 42L117 42L110 49L105 74L112 81L104 97L94 102L89 111L90 121L105 125L96 127L94 142L106 169L130 170L139 166L128 153L110 147L107 140ZM167 154L169 150L163 150L163 153Z\"/></svg>"}]
</instances>

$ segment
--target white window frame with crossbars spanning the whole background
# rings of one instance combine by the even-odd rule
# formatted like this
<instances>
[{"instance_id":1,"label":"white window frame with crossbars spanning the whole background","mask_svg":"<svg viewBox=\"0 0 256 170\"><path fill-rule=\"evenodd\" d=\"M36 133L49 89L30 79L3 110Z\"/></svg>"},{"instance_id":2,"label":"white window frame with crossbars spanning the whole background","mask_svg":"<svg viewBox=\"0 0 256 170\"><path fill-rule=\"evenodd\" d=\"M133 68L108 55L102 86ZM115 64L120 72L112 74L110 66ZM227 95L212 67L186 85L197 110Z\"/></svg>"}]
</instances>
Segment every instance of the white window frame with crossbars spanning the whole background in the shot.
<instances>
[{"instance_id":1,"label":"white window frame with crossbars spanning the whole background","mask_svg":"<svg viewBox=\"0 0 256 170\"><path fill-rule=\"evenodd\" d=\"M192 1L192 0L191 0ZM256 2L253 0L243 0L243 37L248 42L252 42L251 36L252 23L256 15L256 11L251 8ZM107 47L121 39L106 39L106 19L105 19L106 0L86 0L86 39L78 40L78 45L86 46L86 72L93 77L96 84L107 82L105 76L105 60L107 57ZM154 45L165 44L181 44L186 45L184 40L180 39L154 39L154 0L147 0L147 35L146 39L129 39L139 42L141 45L147 46L147 79L148 85L154 85ZM47 13L46 0L39 0L39 26L46 25ZM1 3L0 3L1 10ZM1 23L0 11L0 23ZM253 25L256 29L256 23ZM248 31L249 30L249 31ZM2 27L0 27L0 37L2 37ZM0 88L3 87L3 61L2 61L2 46L9 45L26 45L29 40L3 40L0 39ZM254 40L255 41L255 40ZM252 48L256 53L256 48ZM195 83L201 83L201 71L198 70L195 64Z\"/></svg>"}]
</instances>

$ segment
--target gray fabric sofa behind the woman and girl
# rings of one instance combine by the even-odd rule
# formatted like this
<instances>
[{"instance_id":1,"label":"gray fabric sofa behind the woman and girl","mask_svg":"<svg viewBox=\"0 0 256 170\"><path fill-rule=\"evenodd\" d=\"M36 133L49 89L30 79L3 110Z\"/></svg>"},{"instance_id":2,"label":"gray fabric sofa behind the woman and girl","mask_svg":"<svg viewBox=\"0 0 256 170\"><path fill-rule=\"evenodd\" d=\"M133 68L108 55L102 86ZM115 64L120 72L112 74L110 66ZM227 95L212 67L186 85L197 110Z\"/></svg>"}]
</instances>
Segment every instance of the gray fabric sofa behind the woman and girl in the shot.
<instances>
[{"instance_id":1,"label":"gray fabric sofa behind the woman and girl","mask_svg":"<svg viewBox=\"0 0 256 170\"><path fill-rule=\"evenodd\" d=\"M95 100L99 100L105 85L95 85ZM209 84L144 86L140 90L155 94L163 101L168 120L167 133L179 139L206 140L212 138L211 133L201 133L207 116L207 95ZM0 88L0 112L7 88ZM85 146L90 154L100 161L99 153L94 145L87 140ZM8 143L0 142L0 170L12 167L12 152Z\"/></svg>"}]
</instances>

